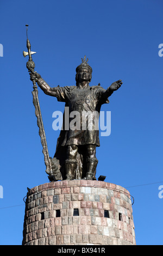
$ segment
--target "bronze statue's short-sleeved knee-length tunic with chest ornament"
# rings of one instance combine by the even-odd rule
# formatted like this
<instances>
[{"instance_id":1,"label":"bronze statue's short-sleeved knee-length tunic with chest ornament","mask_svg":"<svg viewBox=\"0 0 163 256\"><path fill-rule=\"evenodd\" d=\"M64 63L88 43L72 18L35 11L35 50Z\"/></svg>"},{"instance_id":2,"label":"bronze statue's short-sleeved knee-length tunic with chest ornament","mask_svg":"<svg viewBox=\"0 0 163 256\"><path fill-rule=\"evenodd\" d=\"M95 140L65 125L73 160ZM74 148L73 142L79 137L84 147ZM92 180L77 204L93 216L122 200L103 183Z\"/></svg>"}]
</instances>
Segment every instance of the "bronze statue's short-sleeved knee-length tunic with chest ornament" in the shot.
<instances>
[{"instance_id":1,"label":"bronze statue's short-sleeved knee-length tunic with chest ornament","mask_svg":"<svg viewBox=\"0 0 163 256\"><path fill-rule=\"evenodd\" d=\"M56 97L58 101L66 103L70 113L70 129L65 131L61 146L95 144L99 147L99 112L103 103L109 103L108 99L104 99L104 92L105 89L99 85L86 89L77 86L57 87ZM90 115L92 119L89 119ZM74 118L78 123L74 123Z\"/></svg>"}]
</instances>

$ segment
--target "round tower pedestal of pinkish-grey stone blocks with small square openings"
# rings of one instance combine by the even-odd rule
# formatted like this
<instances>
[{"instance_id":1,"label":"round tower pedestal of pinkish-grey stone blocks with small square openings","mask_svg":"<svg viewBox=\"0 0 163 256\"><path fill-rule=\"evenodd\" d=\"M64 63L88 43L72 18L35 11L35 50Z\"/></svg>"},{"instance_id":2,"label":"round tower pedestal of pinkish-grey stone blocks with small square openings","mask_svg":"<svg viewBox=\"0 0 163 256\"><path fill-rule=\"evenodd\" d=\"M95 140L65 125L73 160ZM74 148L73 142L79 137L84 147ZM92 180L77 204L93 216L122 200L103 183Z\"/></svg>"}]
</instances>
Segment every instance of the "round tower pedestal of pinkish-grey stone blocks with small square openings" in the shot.
<instances>
[{"instance_id":1,"label":"round tower pedestal of pinkish-grey stone blocks with small square openings","mask_svg":"<svg viewBox=\"0 0 163 256\"><path fill-rule=\"evenodd\" d=\"M97 180L42 184L27 193L22 245L135 245L129 192Z\"/></svg>"}]
</instances>

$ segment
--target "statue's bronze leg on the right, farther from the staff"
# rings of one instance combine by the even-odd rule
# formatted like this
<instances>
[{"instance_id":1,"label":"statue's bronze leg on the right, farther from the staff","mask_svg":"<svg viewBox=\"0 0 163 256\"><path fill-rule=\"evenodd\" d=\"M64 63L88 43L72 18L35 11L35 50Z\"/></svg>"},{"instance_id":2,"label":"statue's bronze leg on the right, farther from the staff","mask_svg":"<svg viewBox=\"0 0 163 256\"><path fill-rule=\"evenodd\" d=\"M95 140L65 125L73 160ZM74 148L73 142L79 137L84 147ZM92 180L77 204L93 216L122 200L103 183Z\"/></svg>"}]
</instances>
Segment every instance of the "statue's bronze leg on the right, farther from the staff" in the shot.
<instances>
[{"instance_id":1,"label":"statue's bronze leg on the right, farther from the staff","mask_svg":"<svg viewBox=\"0 0 163 256\"><path fill-rule=\"evenodd\" d=\"M86 167L87 172L85 176L85 180L92 180L93 176L96 174L96 167L98 160L96 158L96 145L89 144L86 146Z\"/></svg>"}]
</instances>

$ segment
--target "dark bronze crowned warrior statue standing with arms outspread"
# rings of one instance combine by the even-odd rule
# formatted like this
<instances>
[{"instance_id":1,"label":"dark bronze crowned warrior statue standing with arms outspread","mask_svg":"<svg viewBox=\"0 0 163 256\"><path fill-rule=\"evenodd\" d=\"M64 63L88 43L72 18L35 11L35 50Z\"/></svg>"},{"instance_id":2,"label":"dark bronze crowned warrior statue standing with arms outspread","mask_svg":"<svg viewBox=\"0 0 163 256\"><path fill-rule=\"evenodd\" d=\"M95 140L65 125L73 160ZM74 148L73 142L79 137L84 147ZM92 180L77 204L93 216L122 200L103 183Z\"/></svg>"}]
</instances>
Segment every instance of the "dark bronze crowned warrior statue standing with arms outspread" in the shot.
<instances>
[{"instance_id":1,"label":"dark bronze crowned warrior statue standing with arms outspread","mask_svg":"<svg viewBox=\"0 0 163 256\"><path fill-rule=\"evenodd\" d=\"M108 97L121 87L122 80L112 83L108 89L102 88L100 84L90 86L92 68L87 62L88 59L86 60L86 57L84 57L82 63L76 68L76 86L52 88L37 72L29 70L30 80L35 81L45 94L57 97L58 101L65 102L65 107L69 108L69 113L76 111L82 116L83 113L95 112L99 115L101 106L104 103L109 103ZM88 128L89 124L87 122L84 124L85 129L82 129L82 123L78 129L71 129L71 125L69 129L65 129L64 117L55 155L53 158L47 157L48 168L46 173L49 175L50 181L65 179L96 180L98 163L96 147L99 147L100 144L95 119L92 120L92 129ZM71 117L68 120L71 123ZM43 136L45 137L45 135ZM46 144L43 145L43 148L46 147Z\"/></svg>"}]
</instances>

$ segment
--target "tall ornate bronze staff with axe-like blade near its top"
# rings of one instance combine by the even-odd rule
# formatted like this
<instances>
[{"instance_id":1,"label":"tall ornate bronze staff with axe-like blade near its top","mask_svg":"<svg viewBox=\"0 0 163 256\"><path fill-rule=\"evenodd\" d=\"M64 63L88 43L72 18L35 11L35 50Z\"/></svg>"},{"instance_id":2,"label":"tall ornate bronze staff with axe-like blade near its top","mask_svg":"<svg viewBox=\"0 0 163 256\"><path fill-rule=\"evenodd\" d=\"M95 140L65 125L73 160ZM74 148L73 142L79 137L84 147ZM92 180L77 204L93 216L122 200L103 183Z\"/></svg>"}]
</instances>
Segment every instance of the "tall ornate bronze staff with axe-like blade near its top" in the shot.
<instances>
[{"instance_id":1,"label":"tall ornate bronze staff with axe-like blade near its top","mask_svg":"<svg viewBox=\"0 0 163 256\"><path fill-rule=\"evenodd\" d=\"M26 25L27 27L27 31L28 31L28 25ZM29 56L28 62L26 64L27 69L30 73L34 74L34 68L35 68L35 63L33 62L32 59L32 54L36 53L36 52L32 52L30 51L30 42L28 39L28 33L27 33L27 49L28 52L24 52L23 51L23 56L26 57L27 55ZM52 163L51 163L51 159L49 157L49 153L48 153L48 148L47 148L47 142L46 142L46 136L45 136L45 130L43 127L43 121L42 121L42 115L41 115L41 109L40 109L40 103L39 103L39 97L38 97L38 89L36 86L36 82L35 79L33 80L33 104L35 106L35 115L37 117L37 125L39 126L39 135L41 138L41 144L42 144L42 153L44 155L44 161L45 161L45 165L46 165L46 173L47 174L51 174L52 173Z\"/></svg>"}]
</instances>

